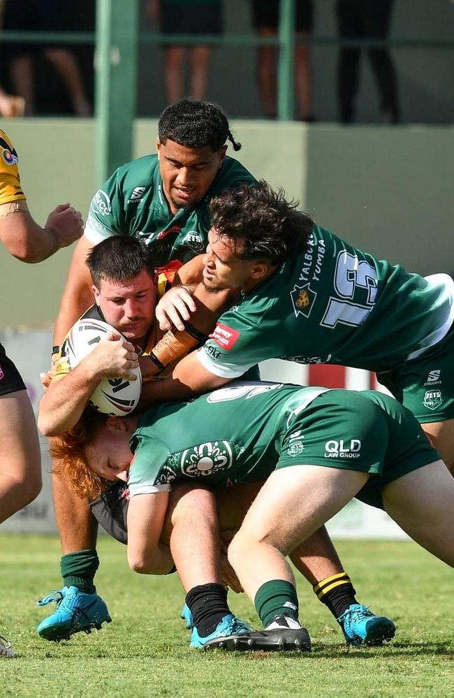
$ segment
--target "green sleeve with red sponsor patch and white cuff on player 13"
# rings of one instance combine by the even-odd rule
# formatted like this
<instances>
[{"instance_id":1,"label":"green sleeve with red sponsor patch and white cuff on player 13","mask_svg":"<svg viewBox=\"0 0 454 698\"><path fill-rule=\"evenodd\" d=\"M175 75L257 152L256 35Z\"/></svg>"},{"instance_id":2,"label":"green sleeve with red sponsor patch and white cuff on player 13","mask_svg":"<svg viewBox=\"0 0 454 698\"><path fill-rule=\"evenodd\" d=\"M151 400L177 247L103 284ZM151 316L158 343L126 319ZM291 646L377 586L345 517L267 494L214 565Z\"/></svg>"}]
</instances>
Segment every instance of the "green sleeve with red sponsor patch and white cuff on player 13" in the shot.
<instances>
[{"instance_id":1,"label":"green sleeve with red sponsor patch and white cuff on player 13","mask_svg":"<svg viewBox=\"0 0 454 698\"><path fill-rule=\"evenodd\" d=\"M238 378L260 361L277 356L276 347L264 341L261 324L228 311L221 315L203 347L198 350L200 363L221 378Z\"/></svg>"}]
</instances>

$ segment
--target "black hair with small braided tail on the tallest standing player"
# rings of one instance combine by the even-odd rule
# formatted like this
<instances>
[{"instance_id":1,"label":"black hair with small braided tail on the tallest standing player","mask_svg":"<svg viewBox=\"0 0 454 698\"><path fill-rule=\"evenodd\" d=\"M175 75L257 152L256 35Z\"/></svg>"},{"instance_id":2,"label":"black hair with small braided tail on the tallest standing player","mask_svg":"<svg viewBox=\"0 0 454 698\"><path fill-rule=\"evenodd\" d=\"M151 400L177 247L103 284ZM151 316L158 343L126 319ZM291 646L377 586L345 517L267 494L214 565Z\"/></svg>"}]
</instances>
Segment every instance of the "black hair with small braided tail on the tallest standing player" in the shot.
<instances>
[{"instance_id":1,"label":"black hair with small braided tail on the tallest standing player","mask_svg":"<svg viewBox=\"0 0 454 698\"><path fill-rule=\"evenodd\" d=\"M233 138L228 119L219 104L201 99L180 99L163 110L158 122L161 143L174 140L186 148L210 146L218 152L230 140L233 150L241 148Z\"/></svg>"}]
</instances>

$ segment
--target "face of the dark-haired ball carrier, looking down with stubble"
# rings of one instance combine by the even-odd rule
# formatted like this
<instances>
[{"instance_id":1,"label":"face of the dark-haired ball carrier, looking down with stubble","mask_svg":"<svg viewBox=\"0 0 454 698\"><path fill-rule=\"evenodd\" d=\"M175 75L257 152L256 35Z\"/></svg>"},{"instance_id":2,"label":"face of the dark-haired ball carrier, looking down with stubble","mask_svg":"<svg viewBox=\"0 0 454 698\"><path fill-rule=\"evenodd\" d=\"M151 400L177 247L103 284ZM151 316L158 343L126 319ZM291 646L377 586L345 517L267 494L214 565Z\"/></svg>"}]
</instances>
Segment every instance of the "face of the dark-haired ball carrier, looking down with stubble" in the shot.
<instances>
[{"instance_id":1,"label":"face of the dark-haired ball carrier, looking down with stubble","mask_svg":"<svg viewBox=\"0 0 454 698\"><path fill-rule=\"evenodd\" d=\"M126 339L138 342L154 323L156 278L143 270L126 282L103 279L99 288L92 286L96 303L105 321Z\"/></svg>"}]
</instances>

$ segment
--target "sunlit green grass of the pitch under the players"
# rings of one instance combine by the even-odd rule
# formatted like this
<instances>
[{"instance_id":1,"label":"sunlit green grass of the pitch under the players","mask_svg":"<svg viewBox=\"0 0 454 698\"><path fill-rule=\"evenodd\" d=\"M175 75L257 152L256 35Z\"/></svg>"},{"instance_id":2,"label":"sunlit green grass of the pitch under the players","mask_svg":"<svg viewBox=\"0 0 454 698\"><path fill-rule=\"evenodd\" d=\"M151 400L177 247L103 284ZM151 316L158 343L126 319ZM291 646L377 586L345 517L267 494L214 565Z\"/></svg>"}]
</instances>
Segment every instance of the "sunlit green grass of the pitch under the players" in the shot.
<instances>
[{"instance_id":1,"label":"sunlit green grass of the pitch under the players","mask_svg":"<svg viewBox=\"0 0 454 698\"><path fill-rule=\"evenodd\" d=\"M113 623L59 645L36 635L54 606L35 599L59 588L53 536L0 536L0 632L18 660L0 659L0 696L40 697L414 697L454 695L452 570L405 542L339 541L358 599L395 620L382 648L346 648L336 623L305 581L300 618L310 655L203 653L189 650L176 575L144 577L126 565L125 548L99 544L98 591ZM258 619L244 595L230 595L244 620Z\"/></svg>"}]
</instances>

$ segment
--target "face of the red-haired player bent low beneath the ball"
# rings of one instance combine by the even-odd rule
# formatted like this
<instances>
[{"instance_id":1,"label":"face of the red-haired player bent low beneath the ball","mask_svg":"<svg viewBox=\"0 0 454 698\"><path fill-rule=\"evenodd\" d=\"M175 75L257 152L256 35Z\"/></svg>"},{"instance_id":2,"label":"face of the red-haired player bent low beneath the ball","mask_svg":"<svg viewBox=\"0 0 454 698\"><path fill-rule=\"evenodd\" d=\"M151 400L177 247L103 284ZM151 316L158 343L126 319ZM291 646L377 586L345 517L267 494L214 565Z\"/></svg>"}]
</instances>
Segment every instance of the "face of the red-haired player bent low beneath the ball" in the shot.
<instances>
[{"instance_id":1,"label":"face of the red-haired player bent low beneath the ball","mask_svg":"<svg viewBox=\"0 0 454 698\"><path fill-rule=\"evenodd\" d=\"M117 423L118 420L120 423ZM106 480L128 480L133 454L129 448L132 429L124 417L110 418L96 432L94 443L87 446L85 456L91 470Z\"/></svg>"}]
</instances>

